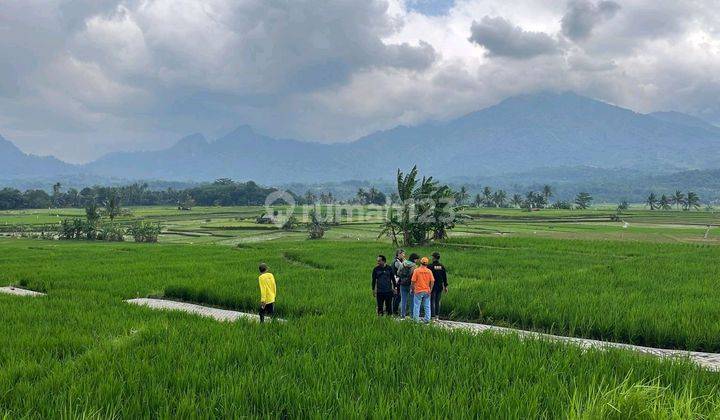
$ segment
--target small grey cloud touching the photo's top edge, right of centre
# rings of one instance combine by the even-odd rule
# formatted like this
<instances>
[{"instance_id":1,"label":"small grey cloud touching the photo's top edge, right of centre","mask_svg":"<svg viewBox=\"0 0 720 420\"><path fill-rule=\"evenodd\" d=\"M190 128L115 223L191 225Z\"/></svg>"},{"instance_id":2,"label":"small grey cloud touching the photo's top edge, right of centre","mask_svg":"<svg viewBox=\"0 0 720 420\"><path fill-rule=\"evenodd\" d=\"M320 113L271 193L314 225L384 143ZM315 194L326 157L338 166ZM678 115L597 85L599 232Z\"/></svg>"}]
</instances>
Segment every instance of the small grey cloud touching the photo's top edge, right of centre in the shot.
<instances>
[{"instance_id":1,"label":"small grey cloud touching the photo's top edge, right of centre","mask_svg":"<svg viewBox=\"0 0 720 420\"><path fill-rule=\"evenodd\" d=\"M590 0L571 0L562 18L562 32L568 38L579 41L590 36L593 28L612 19L620 5L611 0L593 3Z\"/></svg>"}]
</instances>

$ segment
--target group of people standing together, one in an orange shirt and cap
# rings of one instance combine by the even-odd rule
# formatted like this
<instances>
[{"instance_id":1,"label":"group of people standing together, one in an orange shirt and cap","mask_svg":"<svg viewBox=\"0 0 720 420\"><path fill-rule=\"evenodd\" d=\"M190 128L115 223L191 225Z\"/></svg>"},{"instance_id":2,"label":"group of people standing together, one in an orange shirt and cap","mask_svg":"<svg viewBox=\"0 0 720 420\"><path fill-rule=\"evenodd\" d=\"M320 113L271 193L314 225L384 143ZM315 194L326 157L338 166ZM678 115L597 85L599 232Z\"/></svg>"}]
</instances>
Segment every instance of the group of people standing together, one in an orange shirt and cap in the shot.
<instances>
[{"instance_id":1,"label":"group of people standing together, one in an orange shirt and cap","mask_svg":"<svg viewBox=\"0 0 720 420\"><path fill-rule=\"evenodd\" d=\"M447 271L440 262L440 253L432 253L432 261L398 249L395 260L388 264L384 255L378 255L372 272L373 295L377 300L378 315L408 315L414 321L429 323L440 314L442 294L448 291Z\"/></svg>"}]
</instances>

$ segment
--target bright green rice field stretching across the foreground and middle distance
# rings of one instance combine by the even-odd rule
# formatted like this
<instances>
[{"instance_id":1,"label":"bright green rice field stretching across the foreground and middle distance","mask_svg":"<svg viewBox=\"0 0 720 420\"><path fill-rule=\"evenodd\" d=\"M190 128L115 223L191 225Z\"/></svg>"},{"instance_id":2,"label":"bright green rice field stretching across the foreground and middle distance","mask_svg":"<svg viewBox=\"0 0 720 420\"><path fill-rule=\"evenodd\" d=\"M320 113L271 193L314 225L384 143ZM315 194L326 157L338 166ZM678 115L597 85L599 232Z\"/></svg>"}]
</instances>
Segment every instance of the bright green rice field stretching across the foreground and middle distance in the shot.
<instances>
[{"instance_id":1,"label":"bright green rice field stretching across the foreground and middle distance","mask_svg":"<svg viewBox=\"0 0 720 420\"><path fill-rule=\"evenodd\" d=\"M158 244L0 237L0 418L717 418L720 374L684 360L378 318L381 215L307 240L261 208L133 208ZM77 210L0 212L0 226ZM720 352L720 232L703 212L472 209L440 244L441 316ZM55 217L57 219L57 217ZM623 227L623 223L629 226ZM707 237L706 237L707 234ZM286 323L219 323L124 302L257 310L257 265Z\"/></svg>"}]
</instances>

